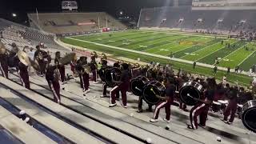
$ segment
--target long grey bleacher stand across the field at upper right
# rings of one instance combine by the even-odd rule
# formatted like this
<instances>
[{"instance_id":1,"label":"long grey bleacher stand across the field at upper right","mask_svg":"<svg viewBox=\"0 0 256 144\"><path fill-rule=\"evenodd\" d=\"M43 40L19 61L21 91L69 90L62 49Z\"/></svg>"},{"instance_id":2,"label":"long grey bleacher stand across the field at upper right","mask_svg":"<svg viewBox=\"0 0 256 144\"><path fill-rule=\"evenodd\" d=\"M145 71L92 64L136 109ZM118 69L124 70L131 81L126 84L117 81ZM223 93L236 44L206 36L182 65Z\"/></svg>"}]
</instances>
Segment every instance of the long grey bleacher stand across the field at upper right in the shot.
<instances>
[{"instance_id":1,"label":"long grey bleacher stand across the field at upper right","mask_svg":"<svg viewBox=\"0 0 256 144\"><path fill-rule=\"evenodd\" d=\"M191 6L143 9L140 27L167 27L187 30L252 31L256 28L256 10L192 10ZM182 23L179 19L184 18ZM202 22L198 22L202 18ZM218 22L218 19L222 22ZM165 19L162 22L162 19ZM241 24L242 20L246 20Z\"/></svg>"}]
</instances>

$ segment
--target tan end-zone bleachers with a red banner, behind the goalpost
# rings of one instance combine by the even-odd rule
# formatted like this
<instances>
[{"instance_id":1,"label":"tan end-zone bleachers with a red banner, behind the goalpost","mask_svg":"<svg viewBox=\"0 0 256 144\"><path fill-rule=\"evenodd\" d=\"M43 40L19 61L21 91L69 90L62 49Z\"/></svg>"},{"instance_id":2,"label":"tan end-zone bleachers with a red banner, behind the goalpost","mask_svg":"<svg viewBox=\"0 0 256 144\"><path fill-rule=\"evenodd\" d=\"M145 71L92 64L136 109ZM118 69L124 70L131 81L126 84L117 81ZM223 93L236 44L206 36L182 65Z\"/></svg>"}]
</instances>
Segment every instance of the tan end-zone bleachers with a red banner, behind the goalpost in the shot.
<instances>
[{"instance_id":1,"label":"tan end-zone bleachers with a red banner, behind the goalpost","mask_svg":"<svg viewBox=\"0 0 256 144\"><path fill-rule=\"evenodd\" d=\"M125 29L126 26L104 12L95 13L46 13L28 14L30 23L41 30L54 34L80 33L100 30L103 27L110 30ZM106 22L107 19L107 22ZM107 24L106 24L107 23Z\"/></svg>"}]
</instances>

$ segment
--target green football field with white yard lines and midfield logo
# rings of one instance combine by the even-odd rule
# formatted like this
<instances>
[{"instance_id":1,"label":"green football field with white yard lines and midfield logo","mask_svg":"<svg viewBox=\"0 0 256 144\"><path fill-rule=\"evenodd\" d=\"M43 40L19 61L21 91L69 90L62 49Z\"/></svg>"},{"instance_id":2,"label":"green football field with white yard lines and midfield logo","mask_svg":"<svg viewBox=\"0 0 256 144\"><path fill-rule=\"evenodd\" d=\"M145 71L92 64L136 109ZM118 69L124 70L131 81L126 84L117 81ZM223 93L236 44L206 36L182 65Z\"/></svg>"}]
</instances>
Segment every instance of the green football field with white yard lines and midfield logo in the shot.
<instances>
[{"instance_id":1,"label":"green football field with white yard lines and midfield logo","mask_svg":"<svg viewBox=\"0 0 256 144\"><path fill-rule=\"evenodd\" d=\"M212 75L210 68L198 66L197 70L185 62L168 62L167 57L179 58L190 62L201 62L234 68L239 66L248 71L256 63L256 44L254 42L228 39L224 36L206 34L190 34L175 31L128 30L114 33L90 34L71 38L62 38L63 42L98 50L112 57L141 58L144 62L170 63L175 68ZM230 45L230 46L228 46ZM116 48L122 48L117 50ZM148 54L154 54L150 57ZM159 57L157 57L159 56ZM203 70L200 70L203 69ZM225 71L219 71L215 77L222 78ZM238 81L247 85L250 78L242 74L230 74L230 81Z\"/></svg>"}]
</instances>

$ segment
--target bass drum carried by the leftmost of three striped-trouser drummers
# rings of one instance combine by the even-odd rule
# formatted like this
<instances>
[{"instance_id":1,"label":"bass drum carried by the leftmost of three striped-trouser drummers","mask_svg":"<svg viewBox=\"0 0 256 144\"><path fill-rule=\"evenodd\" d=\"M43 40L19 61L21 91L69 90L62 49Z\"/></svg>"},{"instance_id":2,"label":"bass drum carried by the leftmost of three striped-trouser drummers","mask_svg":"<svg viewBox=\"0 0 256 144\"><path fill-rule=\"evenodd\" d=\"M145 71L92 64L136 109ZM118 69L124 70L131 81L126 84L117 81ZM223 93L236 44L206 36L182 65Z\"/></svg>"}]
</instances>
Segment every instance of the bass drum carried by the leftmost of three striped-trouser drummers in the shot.
<instances>
[{"instance_id":1,"label":"bass drum carried by the leftmost of three striped-trouser drummers","mask_svg":"<svg viewBox=\"0 0 256 144\"><path fill-rule=\"evenodd\" d=\"M112 82L112 76L114 81L119 81L121 78L121 70L116 67L105 70L105 81L107 86L114 87L118 85L117 83Z\"/></svg>"}]
</instances>

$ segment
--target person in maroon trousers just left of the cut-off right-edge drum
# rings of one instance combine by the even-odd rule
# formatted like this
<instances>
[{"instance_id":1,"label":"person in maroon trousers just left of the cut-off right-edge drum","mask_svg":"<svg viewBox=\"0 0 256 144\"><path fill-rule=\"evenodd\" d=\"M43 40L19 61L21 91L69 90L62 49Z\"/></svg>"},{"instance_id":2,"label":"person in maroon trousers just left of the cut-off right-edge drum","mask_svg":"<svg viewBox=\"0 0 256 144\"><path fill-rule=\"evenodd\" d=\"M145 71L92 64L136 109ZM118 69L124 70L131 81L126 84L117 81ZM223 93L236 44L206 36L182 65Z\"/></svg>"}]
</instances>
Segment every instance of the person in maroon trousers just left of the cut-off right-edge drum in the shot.
<instances>
[{"instance_id":1,"label":"person in maroon trousers just left of the cut-off right-edge drum","mask_svg":"<svg viewBox=\"0 0 256 144\"><path fill-rule=\"evenodd\" d=\"M228 92L228 98L230 98L229 104L226 106L222 121L230 125L234 121L234 116L238 110L238 90L231 87L230 91ZM230 120L228 121L227 118L229 118L229 116Z\"/></svg>"}]
</instances>

